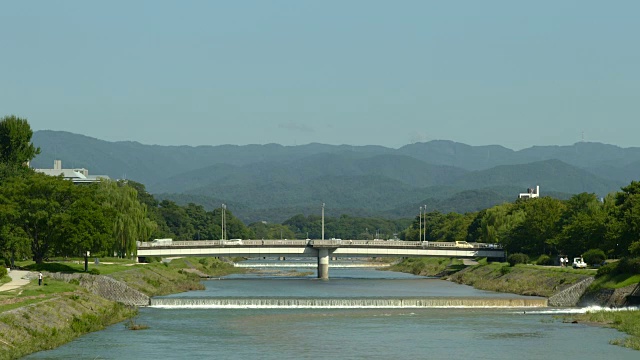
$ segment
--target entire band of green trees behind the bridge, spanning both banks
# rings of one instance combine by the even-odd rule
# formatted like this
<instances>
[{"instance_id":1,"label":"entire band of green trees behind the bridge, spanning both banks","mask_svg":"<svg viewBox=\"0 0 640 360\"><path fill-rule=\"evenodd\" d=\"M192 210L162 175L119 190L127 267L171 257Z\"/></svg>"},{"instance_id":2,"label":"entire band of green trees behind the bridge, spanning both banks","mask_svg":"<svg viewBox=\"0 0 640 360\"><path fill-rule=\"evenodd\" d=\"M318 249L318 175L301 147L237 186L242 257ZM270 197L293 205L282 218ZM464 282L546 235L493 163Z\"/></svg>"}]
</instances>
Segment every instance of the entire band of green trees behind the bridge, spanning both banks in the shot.
<instances>
[{"instance_id":1,"label":"entire band of green trees behind the bridge, spanning both banks","mask_svg":"<svg viewBox=\"0 0 640 360\"><path fill-rule=\"evenodd\" d=\"M40 149L25 119L0 120L0 259L54 256L136 255L136 242L176 240L319 239L320 214L295 215L282 224L258 221L248 226L222 207L158 201L141 183L103 180L75 185L30 169ZM577 194L517 200L479 212L414 219L327 217L325 238L483 242L530 256L578 256L599 249L608 257L640 255L640 182L599 199ZM422 229L422 230L421 230ZM422 231L425 231L423 233Z\"/></svg>"}]
</instances>

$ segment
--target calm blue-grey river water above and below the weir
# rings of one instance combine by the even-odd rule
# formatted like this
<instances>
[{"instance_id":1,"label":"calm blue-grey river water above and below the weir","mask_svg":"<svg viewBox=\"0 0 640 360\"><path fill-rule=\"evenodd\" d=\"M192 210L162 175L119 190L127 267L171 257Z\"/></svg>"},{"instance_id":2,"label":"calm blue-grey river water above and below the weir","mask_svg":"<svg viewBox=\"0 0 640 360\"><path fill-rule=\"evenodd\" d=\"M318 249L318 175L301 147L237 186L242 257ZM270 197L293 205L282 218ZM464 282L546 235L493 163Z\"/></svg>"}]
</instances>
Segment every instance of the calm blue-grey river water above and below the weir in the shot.
<instances>
[{"instance_id":1,"label":"calm blue-grey river water above and below the weir","mask_svg":"<svg viewBox=\"0 0 640 360\"><path fill-rule=\"evenodd\" d=\"M274 273L205 281L206 290L171 296L517 297L409 274L331 269L331 279ZM634 359L610 345L625 334L556 318L582 309L520 308L215 308L140 309L123 324L26 359Z\"/></svg>"}]
</instances>

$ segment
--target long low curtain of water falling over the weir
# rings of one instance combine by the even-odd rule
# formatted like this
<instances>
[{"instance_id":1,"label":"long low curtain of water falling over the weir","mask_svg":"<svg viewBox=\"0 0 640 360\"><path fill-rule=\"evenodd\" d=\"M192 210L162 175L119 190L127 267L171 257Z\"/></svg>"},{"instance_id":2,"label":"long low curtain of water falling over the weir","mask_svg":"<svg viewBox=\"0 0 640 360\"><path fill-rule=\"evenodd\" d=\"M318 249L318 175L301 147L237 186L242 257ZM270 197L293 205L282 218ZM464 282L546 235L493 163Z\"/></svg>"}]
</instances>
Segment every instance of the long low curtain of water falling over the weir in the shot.
<instances>
[{"instance_id":1,"label":"long low curtain of water falling over the weir","mask_svg":"<svg viewBox=\"0 0 640 360\"><path fill-rule=\"evenodd\" d=\"M546 298L152 298L158 308L531 308Z\"/></svg>"}]
</instances>

